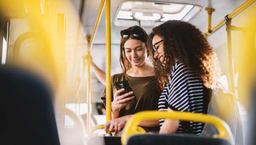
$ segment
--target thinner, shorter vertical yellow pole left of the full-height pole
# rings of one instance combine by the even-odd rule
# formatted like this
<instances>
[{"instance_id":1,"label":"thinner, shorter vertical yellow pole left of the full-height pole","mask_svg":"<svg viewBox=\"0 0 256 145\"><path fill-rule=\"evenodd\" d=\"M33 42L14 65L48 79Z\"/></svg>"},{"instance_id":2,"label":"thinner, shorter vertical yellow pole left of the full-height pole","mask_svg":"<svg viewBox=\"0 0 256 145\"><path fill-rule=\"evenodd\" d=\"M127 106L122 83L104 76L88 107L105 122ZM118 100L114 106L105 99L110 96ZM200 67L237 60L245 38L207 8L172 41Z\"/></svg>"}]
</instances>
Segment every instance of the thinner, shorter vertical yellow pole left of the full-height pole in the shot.
<instances>
[{"instance_id":1,"label":"thinner, shorter vertical yellow pole left of the full-height pole","mask_svg":"<svg viewBox=\"0 0 256 145\"><path fill-rule=\"evenodd\" d=\"M90 111L90 105L91 105L91 80L90 80L90 61L91 61L91 50L89 48L89 42L91 39L91 36L86 36L87 39L87 116L86 116L86 132L89 133L91 129L91 111Z\"/></svg>"}]
</instances>

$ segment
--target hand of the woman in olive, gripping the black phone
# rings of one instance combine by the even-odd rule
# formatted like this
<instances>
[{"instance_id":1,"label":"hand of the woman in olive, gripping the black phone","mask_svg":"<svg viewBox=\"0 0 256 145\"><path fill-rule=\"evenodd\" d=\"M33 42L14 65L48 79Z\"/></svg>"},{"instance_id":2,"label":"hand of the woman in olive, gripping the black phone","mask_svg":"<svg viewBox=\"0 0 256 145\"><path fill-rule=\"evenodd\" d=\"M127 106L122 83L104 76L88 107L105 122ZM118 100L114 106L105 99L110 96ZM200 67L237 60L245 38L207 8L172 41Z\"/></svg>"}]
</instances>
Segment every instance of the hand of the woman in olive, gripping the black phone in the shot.
<instances>
[{"instance_id":1,"label":"hand of the woman in olive, gripping the black phone","mask_svg":"<svg viewBox=\"0 0 256 145\"><path fill-rule=\"evenodd\" d=\"M112 104L111 104L111 109L113 110L113 112L125 107L127 105L128 101L134 99L134 97L135 97L135 96L131 96L131 97L126 98L127 96L133 94L132 91L128 92L126 94L120 95L120 93L122 93L123 91L125 91L124 88L116 91L116 93L114 95L114 100L112 101Z\"/></svg>"}]
</instances>

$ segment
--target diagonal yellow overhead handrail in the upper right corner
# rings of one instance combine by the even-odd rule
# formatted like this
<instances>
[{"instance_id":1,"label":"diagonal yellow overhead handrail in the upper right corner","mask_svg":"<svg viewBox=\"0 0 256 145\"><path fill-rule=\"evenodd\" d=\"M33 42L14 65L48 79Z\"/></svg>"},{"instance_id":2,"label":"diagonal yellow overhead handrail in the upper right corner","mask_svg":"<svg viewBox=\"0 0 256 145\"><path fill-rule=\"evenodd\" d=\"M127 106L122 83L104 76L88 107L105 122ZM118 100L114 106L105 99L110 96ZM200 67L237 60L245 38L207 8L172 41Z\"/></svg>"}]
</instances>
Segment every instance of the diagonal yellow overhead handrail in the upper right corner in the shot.
<instances>
[{"instance_id":1,"label":"diagonal yellow overhead handrail in the upper right corner","mask_svg":"<svg viewBox=\"0 0 256 145\"><path fill-rule=\"evenodd\" d=\"M241 11L243 11L245 8L247 8L248 6L250 6L252 3L254 3L255 0L247 0L245 3L243 3L240 7L238 7L237 9L235 9L234 11L232 11L229 15L228 18L231 19L234 16L236 16L238 13L240 13ZM225 23L225 19L222 19L217 25L215 25L214 27L212 27L211 29L207 30L207 32L205 32L205 35L209 36L211 35L212 32L216 31L218 28L220 28L223 24Z\"/></svg>"}]
</instances>

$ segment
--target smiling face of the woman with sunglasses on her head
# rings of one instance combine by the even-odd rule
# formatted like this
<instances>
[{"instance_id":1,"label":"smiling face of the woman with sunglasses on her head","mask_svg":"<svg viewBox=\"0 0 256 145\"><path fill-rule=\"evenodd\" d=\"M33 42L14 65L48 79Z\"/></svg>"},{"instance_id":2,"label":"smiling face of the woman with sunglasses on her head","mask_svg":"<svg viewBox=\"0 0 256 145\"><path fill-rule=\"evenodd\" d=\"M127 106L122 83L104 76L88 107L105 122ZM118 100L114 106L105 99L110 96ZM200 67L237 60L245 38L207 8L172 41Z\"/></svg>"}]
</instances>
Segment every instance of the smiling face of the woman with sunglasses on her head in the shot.
<instances>
[{"instance_id":1,"label":"smiling face of the woman with sunglasses on her head","mask_svg":"<svg viewBox=\"0 0 256 145\"><path fill-rule=\"evenodd\" d=\"M124 44L125 56L132 66L142 66L147 59L145 43L137 39L128 39Z\"/></svg>"}]
</instances>

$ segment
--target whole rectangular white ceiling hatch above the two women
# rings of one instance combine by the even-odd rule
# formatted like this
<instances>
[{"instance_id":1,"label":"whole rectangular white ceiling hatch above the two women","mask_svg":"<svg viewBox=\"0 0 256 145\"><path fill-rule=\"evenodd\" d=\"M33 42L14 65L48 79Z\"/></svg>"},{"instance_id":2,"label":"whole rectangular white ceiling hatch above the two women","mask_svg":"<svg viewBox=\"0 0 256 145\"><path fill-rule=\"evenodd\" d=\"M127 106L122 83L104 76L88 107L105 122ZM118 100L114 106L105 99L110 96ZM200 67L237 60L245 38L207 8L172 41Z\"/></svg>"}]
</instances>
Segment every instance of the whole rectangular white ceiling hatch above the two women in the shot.
<instances>
[{"instance_id":1,"label":"whole rectangular white ceiling hatch above the two women","mask_svg":"<svg viewBox=\"0 0 256 145\"><path fill-rule=\"evenodd\" d=\"M115 26L154 27L168 20L189 21L202 7L192 4L127 0L119 4Z\"/></svg>"}]
</instances>

